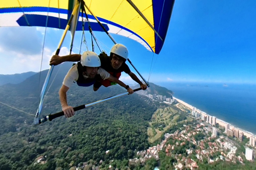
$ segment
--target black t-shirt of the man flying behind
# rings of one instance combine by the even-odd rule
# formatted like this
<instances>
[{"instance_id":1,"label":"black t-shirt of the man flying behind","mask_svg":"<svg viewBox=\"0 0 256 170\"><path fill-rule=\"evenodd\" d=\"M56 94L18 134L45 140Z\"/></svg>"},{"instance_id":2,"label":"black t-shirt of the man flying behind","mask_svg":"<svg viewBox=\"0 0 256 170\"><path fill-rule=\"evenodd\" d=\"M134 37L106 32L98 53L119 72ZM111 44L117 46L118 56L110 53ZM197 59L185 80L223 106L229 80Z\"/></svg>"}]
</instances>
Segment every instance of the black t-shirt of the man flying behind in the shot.
<instances>
[{"instance_id":1,"label":"black t-shirt of the man flying behind","mask_svg":"<svg viewBox=\"0 0 256 170\"><path fill-rule=\"evenodd\" d=\"M123 63L118 69L114 69L111 66L111 61L110 61L110 57L104 54L100 54L99 55L100 58L100 62L101 62L101 68L103 68L104 70L106 70L107 72L113 72L113 73L120 73L120 72L125 72L127 74L129 74L131 72L130 68L128 67L128 65L126 63Z\"/></svg>"}]
</instances>

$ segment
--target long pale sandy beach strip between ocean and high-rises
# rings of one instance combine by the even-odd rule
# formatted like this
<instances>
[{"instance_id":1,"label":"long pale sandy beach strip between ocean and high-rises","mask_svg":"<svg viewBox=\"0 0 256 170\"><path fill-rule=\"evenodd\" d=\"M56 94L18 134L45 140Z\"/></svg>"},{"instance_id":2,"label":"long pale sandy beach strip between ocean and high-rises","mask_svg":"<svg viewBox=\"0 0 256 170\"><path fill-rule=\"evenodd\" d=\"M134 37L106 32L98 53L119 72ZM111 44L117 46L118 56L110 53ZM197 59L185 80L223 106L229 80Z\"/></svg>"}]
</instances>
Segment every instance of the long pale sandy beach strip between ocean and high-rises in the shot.
<instances>
[{"instance_id":1,"label":"long pale sandy beach strip between ocean and high-rises","mask_svg":"<svg viewBox=\"0 0 256 170\"><path fill-rule=\"evenodd\" d=\"M190 105L190 104L188 104L188 103L186 103L186 102L184 102L184 101L182 101L182 100L180 100L180 99L177 99L176 97L173 97L173 99L176 99L179 103L181 103L182 105L188 107L188 108L191 109L191 110L193 110L193 108L195 108L194 106L192 106L192 105ZM201 113L201 114L204 115L204 116L211 116L211 115L209 115L209 114L207 114L207 113L205 113L205 112L203 112L203 111L201 111L201 110L199 110L199 109L197 109L197 108L195 108L195 111L197 111L198 113ZM239 130L239 132L243 132L246 137L251 137L251 136L253 136L253 137L256 139L256 135L253 134L252 132L249 132L249 131L244 130L244 129L241 129L241 128L237 128L237 127L235 127L234 125L232 125L232 124L230 124L230 123L228 123L228 122L225 122L225 121L223 121L223 120L221 120L221 119L216 118L216 123L218 123L218 124L219 124L220 126L222 126L222 127L225 127L227 124L229 124L229 125L230 125L230 126L229 126L229 129L231 129L231 130L232 130L232 129Z\"/></svg>"}]
</instances>

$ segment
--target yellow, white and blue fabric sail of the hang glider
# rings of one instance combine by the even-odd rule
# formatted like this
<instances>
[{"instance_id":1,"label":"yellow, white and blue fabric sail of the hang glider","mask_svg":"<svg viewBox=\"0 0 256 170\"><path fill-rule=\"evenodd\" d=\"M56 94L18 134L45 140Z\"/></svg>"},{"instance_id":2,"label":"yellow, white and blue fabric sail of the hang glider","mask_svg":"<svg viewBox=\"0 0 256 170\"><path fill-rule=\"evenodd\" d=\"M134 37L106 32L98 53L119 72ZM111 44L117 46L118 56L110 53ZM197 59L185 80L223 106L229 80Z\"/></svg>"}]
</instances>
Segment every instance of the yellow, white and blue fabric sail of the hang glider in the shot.
<instances>
[{"instance_id":1,"label":"yellow, white and blue fabric sail of the hang glider","mask_svg":"<svg viewBox=\"0 0 256 170\"><path fill-rule=\"evenodd\" d=\"M0 27L41 26L65 29L75 0L8 0L0 3ZM133 0L151 26L126 0L84 0L109 33L133 39L156 54L162 49L166 37L174 0ZM103 31L95 18L88 13L93 31ZM82 31L81 12L76 31ZM88 31L88 25L85 26Z\"/></svg>"}]
</instances>

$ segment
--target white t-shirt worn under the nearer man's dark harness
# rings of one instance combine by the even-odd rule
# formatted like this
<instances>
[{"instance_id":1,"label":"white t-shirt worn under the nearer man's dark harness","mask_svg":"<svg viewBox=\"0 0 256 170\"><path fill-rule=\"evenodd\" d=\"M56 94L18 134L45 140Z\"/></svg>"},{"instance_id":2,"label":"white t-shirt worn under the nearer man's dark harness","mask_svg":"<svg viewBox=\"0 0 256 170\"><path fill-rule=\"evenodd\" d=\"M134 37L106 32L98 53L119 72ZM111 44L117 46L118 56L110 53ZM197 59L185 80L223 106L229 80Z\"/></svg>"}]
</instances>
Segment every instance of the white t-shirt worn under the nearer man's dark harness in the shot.
<instances>
[{"instance_id":1,"label":"white t-shirt worn under the nearer man's dark harness","mask_svg":"<svg viewBox=\"0 0 256 170\"><path fill-rule=\"evenodd\" d=\"M98 74L100 75L100 77L103 80L110 77L110 74L101 67L98 70ZM84 75L84 78L88 78L88 76ZM77 64L76 64L76 65L73 65L69 69L69 71L68 71L67 75L65 76L62 84L70 88L72 86L72 84L74 83L74 81L77 81L77 80L78 80L78 70L77 70Z\"/></svg>"}]
</instances>

